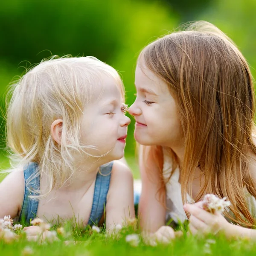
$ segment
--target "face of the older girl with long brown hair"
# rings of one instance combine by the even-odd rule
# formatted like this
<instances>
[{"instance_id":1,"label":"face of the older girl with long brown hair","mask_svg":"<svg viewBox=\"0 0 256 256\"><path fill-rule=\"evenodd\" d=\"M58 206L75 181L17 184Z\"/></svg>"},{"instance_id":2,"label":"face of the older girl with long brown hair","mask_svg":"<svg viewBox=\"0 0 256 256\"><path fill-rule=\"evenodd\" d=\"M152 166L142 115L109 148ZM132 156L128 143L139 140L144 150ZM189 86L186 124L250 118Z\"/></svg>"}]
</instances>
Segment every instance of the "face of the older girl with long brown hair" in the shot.
<instances>
[{"instance_id":1,"label":"face of the older girl with long brown hair","mask_svg":"<svg viewBox=\"0 0 256 256\"><path fill-rule=\"evenodd\" d=\"M135 72L137 97L129 108L134 137L142 145L183 145L177 107L168 85L140 61Z\"/></svg>"}]
</instances>

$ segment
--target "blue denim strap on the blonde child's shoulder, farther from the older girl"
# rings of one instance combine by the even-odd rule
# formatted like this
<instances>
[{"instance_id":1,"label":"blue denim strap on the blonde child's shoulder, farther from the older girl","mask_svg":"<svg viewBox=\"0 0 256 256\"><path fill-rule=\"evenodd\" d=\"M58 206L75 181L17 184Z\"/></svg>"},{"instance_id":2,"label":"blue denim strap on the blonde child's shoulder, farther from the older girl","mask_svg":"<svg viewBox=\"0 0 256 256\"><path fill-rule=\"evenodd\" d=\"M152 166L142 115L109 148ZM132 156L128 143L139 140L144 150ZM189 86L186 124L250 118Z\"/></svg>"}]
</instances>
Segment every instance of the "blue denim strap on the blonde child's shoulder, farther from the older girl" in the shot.
<instances>
[{"instance_id":1,"label":"blue denim strap on the blonde child's shoulder, farther from the older girl","mask_svg":"<svg viewBox=\"0 0 256 256\"><path fill-rule=\"evenodd\" d=\"M23 204L20 211L19 221L24 220L26 224L29 224L30 219L35 218L37 209L38 209L38 200L29 198L29 195L39 195L34 191L32 192L29 191L29 189L32 189L32 190L40 189L40 175L37 175L29 183L27 183L27 180L29 179L29 177L31 177L31 175L35 175L38 172L38 164L29 163L24 168L23 172L24 172L25 187L24 187L24 198L23 198Z\"/></svg>"}]
</instances>

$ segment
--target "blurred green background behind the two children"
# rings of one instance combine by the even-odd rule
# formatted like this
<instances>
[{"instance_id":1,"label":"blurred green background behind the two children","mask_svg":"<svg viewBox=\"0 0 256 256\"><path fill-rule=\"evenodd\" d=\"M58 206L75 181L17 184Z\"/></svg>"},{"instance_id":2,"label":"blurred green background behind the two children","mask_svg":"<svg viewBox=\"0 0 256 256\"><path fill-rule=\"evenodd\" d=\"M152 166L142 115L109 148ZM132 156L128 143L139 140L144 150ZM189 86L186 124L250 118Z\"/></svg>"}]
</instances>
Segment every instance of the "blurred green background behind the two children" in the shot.
<instances>
[{"instance_id":1,"label":"blurred green background behind the two children","mask_svg":"<svg viewBox=\"0 0 256 256\"><path fill-rule=\"evenodd\" d=\"M119 71L134 101L140 50L180 23L207 20L235 41L256 75L256 0L9 0L0 8L1 168L8 166L4 98L24 67L50 55L93 55ZM129 126L125 156L139 177Z\"/></svg>"}]
</instances>

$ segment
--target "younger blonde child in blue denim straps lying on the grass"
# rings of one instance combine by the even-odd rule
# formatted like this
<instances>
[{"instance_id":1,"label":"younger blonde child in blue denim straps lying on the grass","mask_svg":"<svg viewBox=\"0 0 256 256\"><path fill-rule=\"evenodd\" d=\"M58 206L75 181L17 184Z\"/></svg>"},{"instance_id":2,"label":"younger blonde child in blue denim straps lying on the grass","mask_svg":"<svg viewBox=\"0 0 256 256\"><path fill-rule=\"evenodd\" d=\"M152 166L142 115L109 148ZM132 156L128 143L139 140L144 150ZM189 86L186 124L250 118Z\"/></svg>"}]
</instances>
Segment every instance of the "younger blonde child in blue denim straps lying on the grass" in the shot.
<instances>
[{"instance_id":1,"label":"younger blonde child in blue denim straps lying on the grass","mask_svg":"<svg viewBox=\"0 0 256 256\"><path fill-rule=\"evenodd\" d=\"M73 220L107 230L134 218L124 156L130 119L122 81L93 57L52 58L10 93L7 145L15 170L0 183L0 218Z\"/></svg>"}]
</instances>

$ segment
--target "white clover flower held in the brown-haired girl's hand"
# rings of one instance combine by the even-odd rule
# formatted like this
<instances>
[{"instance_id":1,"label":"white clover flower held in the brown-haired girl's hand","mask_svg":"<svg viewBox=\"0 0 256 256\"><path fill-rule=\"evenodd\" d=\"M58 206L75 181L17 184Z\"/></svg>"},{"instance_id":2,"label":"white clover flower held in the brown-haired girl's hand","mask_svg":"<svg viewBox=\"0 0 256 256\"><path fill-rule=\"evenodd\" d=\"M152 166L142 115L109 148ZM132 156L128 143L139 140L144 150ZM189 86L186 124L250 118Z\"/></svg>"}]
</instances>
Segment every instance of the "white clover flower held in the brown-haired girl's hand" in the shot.
<instances>
[{"instance_id":1,"label":"white clover flower held in the brown-haired girl's hand","mask_svg":"<svg viewBox=\"0 0 256 256\"><path fill-rule=\"evenodd\" d=\"M215 213L224 212L225 207L230 206L230 201L225 201L226 198L217 198L215 195L207 194L202 201L202 208L207 212Z\"/></svg>"}]
</instances>

